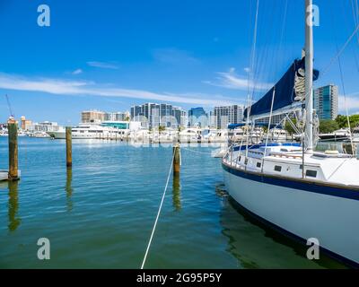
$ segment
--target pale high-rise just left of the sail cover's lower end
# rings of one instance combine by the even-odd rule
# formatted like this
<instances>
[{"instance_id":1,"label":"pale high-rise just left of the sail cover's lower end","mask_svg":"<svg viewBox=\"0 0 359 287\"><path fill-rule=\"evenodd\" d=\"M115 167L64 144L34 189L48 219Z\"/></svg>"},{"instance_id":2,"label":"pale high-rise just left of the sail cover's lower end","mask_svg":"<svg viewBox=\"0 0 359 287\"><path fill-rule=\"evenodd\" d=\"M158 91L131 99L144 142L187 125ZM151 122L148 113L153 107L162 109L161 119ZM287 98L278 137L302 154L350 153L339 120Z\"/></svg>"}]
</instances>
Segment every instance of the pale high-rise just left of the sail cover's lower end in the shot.
<instances>
[{"instance_id":1,"label":"pale high-rise just left of the sail cover's lower end","mask_svg":"<svg viewBox=\"0 0 359 287\"><path fill-rule=\"evenodd\" d=\"M229 124L243 121L244 107L241 105L215 107L215 128L227 128Z\"/></svg>"}]
</instances>

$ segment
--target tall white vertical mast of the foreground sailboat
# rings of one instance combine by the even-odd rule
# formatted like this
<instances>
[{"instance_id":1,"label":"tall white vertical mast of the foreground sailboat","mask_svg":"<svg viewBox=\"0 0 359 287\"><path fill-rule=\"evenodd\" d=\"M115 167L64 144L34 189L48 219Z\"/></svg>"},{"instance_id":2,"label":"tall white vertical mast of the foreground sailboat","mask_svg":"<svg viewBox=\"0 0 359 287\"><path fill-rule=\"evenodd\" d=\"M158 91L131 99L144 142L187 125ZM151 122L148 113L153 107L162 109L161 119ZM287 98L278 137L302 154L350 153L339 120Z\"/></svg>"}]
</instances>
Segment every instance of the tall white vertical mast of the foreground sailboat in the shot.
<instances>
[{"instance_id":1,"label":"tall white vertical mast of the foreground sailboat","mask_svg":"<svg viewBox=\"0 0 359 287\"><path fill-rule=\"evenodd\" d=\"M307 152L313 150L313 10L312 0L305 0L305 135Z\"/></svg>"}]
</instances>

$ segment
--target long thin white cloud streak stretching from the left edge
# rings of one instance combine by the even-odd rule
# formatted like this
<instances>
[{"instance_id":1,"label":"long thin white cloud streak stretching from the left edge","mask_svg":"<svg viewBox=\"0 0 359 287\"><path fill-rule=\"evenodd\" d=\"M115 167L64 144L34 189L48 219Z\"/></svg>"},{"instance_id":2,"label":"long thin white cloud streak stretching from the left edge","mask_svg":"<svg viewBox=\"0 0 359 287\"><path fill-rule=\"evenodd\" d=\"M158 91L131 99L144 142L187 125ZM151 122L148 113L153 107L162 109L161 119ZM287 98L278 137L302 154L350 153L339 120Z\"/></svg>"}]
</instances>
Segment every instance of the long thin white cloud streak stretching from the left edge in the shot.
<instances>
[{"instance_id":1,"label":"long thin white cloud streak stretching from the left edge","mask_svg":"<svg viewBox=\"0 0 359 287\"><path fill-rule=\"evenodd\" d=\"M135 89L123 89L113 85L101 85L87 81L69 81L49 78L28 79L17 75L0 74L0 89L16 91L40 91L57 95L91 95L100 97L161 100L204 106L227 105L237 102L222 95L200 93L157 93Z\"/></svg>"}]
</instances>

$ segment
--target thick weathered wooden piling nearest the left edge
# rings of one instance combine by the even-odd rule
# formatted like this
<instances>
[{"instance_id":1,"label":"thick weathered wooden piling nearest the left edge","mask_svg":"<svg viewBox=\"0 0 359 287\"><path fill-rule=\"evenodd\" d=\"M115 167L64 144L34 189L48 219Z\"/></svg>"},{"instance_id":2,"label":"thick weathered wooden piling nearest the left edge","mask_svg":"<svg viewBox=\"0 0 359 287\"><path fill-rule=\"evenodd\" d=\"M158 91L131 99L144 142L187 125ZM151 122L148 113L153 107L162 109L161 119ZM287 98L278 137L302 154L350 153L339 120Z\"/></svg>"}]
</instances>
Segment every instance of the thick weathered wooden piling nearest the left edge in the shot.
<instances>
[{"instance_id":1,"label":"thick weathered wooden piling nearest the left edge","mask_svg":"<svg viewBox=\"0 0 359 287\"><path fill-rule=\"evenodd\" d=\"M9 133L9 179L19 179L18 171L18 144L17 144L17 124L9 121L7 125Z\"/></svg>"}]
</instances>

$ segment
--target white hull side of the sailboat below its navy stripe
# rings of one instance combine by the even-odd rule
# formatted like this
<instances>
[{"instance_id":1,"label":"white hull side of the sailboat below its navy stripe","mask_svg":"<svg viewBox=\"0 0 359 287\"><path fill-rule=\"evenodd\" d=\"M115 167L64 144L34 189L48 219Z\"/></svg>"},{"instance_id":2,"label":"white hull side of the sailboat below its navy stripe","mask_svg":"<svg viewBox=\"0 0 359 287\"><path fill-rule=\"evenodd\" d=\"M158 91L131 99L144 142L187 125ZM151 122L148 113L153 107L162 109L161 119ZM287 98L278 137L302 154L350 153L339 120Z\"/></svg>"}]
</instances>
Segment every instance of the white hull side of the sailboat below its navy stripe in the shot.
<instances>
[{"instance_id":1,"label":"white hull side of the sailboat below its navy stripe","mask_svg":"<svg viewBox=\"0 0 359 287\"><path fill-rule=\"evenodd\" d=\"M250 213L296 238L319 239L329 255L359 264L359 200L267 184L239 176L243 171L223 172L230 196Z\"/></svg>"}]
</instances>

